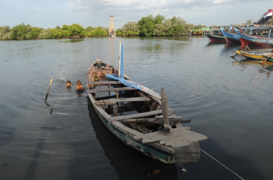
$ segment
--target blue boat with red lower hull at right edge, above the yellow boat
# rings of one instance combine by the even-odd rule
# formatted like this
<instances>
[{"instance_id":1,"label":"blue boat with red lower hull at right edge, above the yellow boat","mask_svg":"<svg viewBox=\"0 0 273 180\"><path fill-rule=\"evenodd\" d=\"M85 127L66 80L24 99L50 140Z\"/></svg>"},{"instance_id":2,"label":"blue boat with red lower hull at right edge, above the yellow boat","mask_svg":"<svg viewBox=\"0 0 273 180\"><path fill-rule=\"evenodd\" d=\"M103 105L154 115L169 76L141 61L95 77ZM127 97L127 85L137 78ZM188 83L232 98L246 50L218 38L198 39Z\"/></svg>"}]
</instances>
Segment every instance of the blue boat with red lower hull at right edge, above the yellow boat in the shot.
<instances>
[{"instance_id":1,"label":"blue boat with red lower hull at right edge, above the yellow boat","mask_svg":"<svg viewBox=\"0 0 273 180\"><path fill-rule=\"evenodd\" d=\"M238 34L238 37L240 38L240 41L243 46L247 45L253 45L253 46L269 46L273 45L273 38L266 38L261 36L251 36L247 35L245 33L236 31ZM270 31L269 31L270 34Z\"/></svg>"}]
</instances>

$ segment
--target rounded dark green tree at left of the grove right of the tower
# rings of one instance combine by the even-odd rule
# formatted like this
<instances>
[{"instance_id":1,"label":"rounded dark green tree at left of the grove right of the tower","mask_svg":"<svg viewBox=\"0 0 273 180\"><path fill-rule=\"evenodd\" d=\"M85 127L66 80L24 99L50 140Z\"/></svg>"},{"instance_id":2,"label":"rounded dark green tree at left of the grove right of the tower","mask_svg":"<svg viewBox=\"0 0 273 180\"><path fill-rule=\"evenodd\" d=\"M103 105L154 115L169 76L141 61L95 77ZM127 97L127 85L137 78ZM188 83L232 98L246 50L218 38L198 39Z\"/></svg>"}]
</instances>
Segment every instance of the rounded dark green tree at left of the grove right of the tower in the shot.
<instances>
[{"instance_id":1,"label":"rounded dark green tree at left of the grove right of the tower","mask_svg":"<svg viewBox=\"0 0 273 180\"><path fill-rule=\"evenodd\" d=\"M140 26L140 35L151 36L154 34L155 25L153 15L149 14L148 17L142 17L138 21L138 25Z\"/></svg>"}]
</instances>

